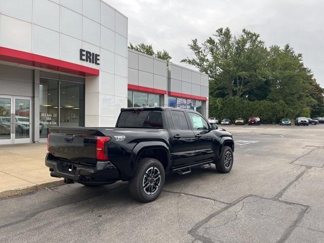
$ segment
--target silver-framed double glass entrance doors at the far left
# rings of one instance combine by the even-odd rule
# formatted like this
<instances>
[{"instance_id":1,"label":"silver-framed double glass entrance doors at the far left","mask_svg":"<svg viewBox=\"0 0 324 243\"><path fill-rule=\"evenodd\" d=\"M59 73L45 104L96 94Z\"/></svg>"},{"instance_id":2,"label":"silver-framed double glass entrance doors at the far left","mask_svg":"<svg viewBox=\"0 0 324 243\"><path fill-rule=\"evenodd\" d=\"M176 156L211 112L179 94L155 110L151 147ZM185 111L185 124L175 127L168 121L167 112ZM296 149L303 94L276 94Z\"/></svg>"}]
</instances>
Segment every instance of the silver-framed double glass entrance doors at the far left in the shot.
<instances>
[{"instance_id":1,"label":"silver-framed double glass entrance doors at the far left","mask_svg":"<svg viewBox=\"0 0 324 243\"><path fill-rule=\"evenodd\" d=\"M31 142L31 98L0 96L0 144Z\"/></svg>"}]
</instances>

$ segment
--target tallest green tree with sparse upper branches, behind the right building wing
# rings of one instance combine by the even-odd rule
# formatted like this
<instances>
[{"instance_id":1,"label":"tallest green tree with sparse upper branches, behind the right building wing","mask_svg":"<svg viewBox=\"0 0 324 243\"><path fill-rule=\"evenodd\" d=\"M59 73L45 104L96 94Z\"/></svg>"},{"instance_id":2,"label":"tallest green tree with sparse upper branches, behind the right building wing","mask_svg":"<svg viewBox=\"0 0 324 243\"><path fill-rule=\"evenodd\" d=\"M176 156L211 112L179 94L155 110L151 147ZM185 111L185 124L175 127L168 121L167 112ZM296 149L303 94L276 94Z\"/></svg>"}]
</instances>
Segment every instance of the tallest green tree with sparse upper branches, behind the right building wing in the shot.
<instances>
[{"instance_id":1,"label":"tallest green tree with sparse upper branches, behind the right building wing","mask_svg":"<svg viewBox=\"0 0 324 243\"><path fill-rule=\"evenodd\" d=\"M267 49L257 33L243 29L236 36L228 27L219 28L203 44L192 39L188 46L194 58L187 57L181 62L207 73L215 81L211 82L215 85L210 87L212 91L225 88L228 97L240 97L266 80Z\"/></svg>"}]
</instances>

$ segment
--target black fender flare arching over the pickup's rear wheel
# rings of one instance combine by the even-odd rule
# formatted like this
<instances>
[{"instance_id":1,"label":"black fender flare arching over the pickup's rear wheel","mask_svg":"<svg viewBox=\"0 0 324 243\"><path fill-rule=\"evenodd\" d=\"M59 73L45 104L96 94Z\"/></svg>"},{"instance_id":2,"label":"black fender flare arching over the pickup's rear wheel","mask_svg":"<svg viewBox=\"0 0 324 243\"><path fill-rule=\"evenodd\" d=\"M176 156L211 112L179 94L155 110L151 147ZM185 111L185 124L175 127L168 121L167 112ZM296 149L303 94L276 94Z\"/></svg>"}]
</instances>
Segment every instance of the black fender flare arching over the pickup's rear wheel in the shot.
<instances>
[{"instance_id":1,"label":"black fender flare arching over the pickup's rear wheel","mask_svg":"<svg viewBox=\"0 0 324 243\"><path fill-rule=\"evenodd\" d=\"M166 153L167 153L167 157L168 157L168 166L167 166L167 170L170 168L171 166L171 156L170 156L170 149L169 146L161 141L150 141L150 142L140 142L138 143L133 151L132 151L132 155L131 155L131 164L134 168L133 171L135 171L136 167L137 167L137 162L139 159L139 156L141 154L141 152L145 149L163 149Z\"/></svg>"}]
</instances>

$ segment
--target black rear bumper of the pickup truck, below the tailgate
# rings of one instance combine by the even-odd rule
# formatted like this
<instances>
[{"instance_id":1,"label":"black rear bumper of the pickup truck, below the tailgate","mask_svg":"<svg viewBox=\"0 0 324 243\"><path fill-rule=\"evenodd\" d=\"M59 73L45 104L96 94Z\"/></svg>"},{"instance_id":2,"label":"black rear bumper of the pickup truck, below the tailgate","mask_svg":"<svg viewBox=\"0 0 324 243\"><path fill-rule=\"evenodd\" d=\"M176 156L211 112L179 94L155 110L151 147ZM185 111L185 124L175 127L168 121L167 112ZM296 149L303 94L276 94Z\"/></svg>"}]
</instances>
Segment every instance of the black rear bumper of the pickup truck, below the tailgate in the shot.
<instances>
[{"instance_id":1,"label":"black rear bumper of the pickup truck, below the tailgate","mask_svg":"<svg viewBox=\"0 0 324 243\"><path fill-rule=\"evenodd\" d=\"M119 171L110 161L98 161L96 167L68 163L47 153L45 165L52 177L67 178L88 184L109 184L119 180Z\"/></svg>"}]
</instances>

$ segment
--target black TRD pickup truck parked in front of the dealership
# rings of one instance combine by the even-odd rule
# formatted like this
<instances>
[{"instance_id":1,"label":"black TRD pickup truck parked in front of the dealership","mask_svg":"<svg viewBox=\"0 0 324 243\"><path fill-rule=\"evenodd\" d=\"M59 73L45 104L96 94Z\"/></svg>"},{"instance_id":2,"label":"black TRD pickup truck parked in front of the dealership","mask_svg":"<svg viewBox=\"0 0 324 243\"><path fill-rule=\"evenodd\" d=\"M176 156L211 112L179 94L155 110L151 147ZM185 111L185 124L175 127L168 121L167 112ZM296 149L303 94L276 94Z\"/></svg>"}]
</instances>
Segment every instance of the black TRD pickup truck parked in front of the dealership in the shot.
<instances>
[{"instance_id":1,"label":"black TRD pickup truck parked in front of the dealership","mask_svg":"<svg viewBox=\"0 0 324 243\"><path fill-rule=\"evenodd\" d=\"M155 200L165 173L191 167L233 166L232 134L192 110L141 107L121 109L115 128L50 128L45 164L51 176L87 186L129 181L137 200Z\"/></svg>"}]
</instances>

